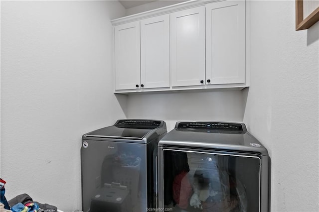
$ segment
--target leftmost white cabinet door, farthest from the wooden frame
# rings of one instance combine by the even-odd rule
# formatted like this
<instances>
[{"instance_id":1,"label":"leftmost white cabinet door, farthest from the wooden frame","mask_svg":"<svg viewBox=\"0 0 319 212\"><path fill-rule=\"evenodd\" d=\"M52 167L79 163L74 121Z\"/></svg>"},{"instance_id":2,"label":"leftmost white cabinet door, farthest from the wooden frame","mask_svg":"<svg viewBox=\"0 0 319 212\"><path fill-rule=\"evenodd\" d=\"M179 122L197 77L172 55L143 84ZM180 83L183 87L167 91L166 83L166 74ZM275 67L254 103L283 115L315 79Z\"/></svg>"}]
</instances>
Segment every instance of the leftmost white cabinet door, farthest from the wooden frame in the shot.
<instances>
[{"instance_id":1,"label":"leftmost white cabinet door, farthest from the wooden frame","mask_svg":"<svg viewBox=\"0 0 319 212\"><path fill-rule=\"evenodd\" d=\"M140 21L115 26L115 90L140 86Z\"/></svg>"}]
</instances>

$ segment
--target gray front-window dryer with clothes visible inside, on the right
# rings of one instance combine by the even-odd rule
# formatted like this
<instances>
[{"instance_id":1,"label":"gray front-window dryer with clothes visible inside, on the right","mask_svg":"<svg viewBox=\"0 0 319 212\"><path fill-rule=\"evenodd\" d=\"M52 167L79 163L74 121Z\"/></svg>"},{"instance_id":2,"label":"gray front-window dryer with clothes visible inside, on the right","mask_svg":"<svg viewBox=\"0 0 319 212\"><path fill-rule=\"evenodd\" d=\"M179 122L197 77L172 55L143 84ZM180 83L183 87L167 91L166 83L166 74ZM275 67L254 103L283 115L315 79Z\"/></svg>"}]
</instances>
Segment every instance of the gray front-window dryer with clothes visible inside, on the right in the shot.
<instances>
[{"instance_id":1,"label":"gray front-window dryer with clothes visible inside, on the right","mask_svg":"<svg viewBox=\"0 0 319 212\"><path fill-rule=\"evenodd\" d=\"M245 124L177 122L158 149L159 208L270 211L270 157Z\"/></svg>"}]
</instances>

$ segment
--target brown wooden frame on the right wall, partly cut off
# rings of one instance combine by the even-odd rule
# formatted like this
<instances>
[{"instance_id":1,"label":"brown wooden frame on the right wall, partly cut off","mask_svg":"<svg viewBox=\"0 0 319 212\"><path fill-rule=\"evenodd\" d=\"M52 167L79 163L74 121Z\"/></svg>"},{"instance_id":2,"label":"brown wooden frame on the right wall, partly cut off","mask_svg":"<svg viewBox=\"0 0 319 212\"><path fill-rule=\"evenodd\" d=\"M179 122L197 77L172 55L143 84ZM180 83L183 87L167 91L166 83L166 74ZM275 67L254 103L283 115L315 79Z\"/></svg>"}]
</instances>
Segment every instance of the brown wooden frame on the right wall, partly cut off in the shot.
<instances>
[{"instance_id":1,"label":"brown wooden frame on the right wall, partly cut off","mask_svg":"<svg viewBox=\"0 0 319 212\"><path fill-rule=\"evenodd\" d=\"M319 21L319 7L304 19L304 0L296 0L296 31L309 29Z\"/></svg>"}]
</instances>

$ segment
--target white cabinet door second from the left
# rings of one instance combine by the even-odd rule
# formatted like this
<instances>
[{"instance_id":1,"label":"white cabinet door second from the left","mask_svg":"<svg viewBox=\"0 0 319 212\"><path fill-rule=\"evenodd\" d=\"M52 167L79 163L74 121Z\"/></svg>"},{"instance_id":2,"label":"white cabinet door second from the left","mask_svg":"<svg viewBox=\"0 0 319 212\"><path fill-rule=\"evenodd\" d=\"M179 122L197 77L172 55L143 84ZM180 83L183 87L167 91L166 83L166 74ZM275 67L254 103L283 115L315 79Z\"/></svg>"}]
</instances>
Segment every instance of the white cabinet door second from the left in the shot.
<instances>
[{"instance_id":1,"label":"white cabinet door second from the left","mask_svg":"<svg viewBox=\"0 0 319 212\"><path fill-rule=\"evenodd\" d=\"M169 87L169 15L141 20L141 84Z\"/></svg>"}]
</instances>

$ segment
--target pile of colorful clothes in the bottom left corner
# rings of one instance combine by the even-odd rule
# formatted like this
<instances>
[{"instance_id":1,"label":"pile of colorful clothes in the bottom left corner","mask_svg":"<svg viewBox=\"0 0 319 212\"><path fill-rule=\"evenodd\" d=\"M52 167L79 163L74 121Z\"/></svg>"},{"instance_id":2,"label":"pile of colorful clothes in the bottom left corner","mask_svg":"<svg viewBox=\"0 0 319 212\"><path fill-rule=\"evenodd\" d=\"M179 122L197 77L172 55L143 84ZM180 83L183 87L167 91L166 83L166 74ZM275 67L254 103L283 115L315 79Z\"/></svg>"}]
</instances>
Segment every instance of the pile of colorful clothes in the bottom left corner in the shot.
<instances>
[{"instance_id":1,"label":"pile of colorful clothes in the bottom left corner","mask_svg":"<svg viewBox=\"0 0 319 212\"><path fill-rule=\"evenodd\" d=\"M55 206L34 202L27 194L21 194L7 201L4 197L5 181L0 178L0 212L57 212Z\"/></svg>"}]
</instances>

